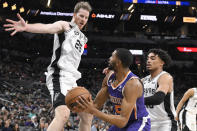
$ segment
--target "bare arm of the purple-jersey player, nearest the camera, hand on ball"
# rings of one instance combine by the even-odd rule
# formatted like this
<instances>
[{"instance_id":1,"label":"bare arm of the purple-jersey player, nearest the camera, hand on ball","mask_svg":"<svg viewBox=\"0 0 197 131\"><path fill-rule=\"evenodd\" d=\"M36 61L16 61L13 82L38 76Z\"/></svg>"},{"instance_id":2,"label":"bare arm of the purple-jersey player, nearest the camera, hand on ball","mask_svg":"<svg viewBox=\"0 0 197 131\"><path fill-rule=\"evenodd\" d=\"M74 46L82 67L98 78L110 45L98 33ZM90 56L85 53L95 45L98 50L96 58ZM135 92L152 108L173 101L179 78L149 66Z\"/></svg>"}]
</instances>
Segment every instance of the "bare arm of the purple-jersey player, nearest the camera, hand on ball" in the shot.
<instances>
[{"instance_id":1,"label":"bare arm of the purple-jersey player, nearest the camera, hand on ball","mask_svg":"<svg viewBox=\"0 0 197 131\"><path fill-rule=\"evenodd\" d=\"M142 92L143 89L139 80L133 79L127 82L124 87L124 98L121 104L120 115L105 114L96 109L92 101L88 101L83 97L81 97L80 105L85 109L85 112L91 113L96 117L119 128L123 128L128 123L131 112L136 104L136 100L142 95Z\"/></svg>"}]
</instances>

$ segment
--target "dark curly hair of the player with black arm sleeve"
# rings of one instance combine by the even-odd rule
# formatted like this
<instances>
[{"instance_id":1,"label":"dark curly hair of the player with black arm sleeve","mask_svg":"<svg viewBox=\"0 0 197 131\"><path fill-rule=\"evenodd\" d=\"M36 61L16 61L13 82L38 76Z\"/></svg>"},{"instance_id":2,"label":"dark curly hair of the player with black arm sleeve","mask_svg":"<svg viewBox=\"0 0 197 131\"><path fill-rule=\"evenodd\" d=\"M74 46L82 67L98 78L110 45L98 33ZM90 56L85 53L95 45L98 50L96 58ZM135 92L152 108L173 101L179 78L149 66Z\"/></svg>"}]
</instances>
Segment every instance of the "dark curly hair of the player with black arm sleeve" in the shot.
<instances>
[{"instance_id":1,"label":"dark curly hair of the player with black arm sleeve","mask_svg":"<svg viewBox=\"0 0 197 131\"><path fill-rule=\"evenodd\" d=\"M169 56L169 54L162 49L150 49L148 51L148 54L150 53L154 53L155 55L158 55L159 58L164 62L164 67L169 67L170 64L172 63L172 59Z\"/></svg>"}]
</instances>

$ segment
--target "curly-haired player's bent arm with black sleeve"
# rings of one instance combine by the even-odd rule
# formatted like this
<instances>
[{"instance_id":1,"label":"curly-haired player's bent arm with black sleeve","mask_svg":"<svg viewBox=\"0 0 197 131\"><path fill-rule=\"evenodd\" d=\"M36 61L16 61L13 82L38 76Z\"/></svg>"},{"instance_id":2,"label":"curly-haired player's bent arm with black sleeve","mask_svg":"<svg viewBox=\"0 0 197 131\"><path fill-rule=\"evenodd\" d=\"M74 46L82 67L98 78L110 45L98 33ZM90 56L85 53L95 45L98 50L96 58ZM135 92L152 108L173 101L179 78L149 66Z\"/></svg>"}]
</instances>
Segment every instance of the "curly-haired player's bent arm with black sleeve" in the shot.
<instances>
[{"instance_id":1,"label":"curly-haired player's bent arm with black sleeve","mask_svg":"<svg viewBox=\"0 0 197 131\"><path fill-rule=\"evenodd\" d=\"M172 76L168 73L161 75L158 80L158 85L159 87L153 96L144 98L145 105L159 105L164 101L166 94L172 90Z\"/></svg>"}]
</instances>

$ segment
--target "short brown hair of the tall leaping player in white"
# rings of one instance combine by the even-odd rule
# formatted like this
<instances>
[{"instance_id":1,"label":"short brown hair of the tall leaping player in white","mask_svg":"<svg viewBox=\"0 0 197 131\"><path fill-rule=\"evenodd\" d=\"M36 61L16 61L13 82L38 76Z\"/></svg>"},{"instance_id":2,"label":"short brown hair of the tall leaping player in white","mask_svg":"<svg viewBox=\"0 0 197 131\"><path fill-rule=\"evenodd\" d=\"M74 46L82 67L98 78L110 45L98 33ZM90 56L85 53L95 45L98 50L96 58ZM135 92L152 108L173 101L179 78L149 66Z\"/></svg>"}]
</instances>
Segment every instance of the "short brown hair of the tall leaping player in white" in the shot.
<instances>
[{"instance_id":1,"label":"short brown hair of the tall leaping player in white","mask_svg":"<svg viewBox=\"0 0 197 131\"><path fill-rule=\"evenodd\" d=\"M79 9L81 8L87 10L88 12L92 11L92 7L88 2L81 1L75 5L74 13L78 13Z\"/></svg>"}]
</instances>

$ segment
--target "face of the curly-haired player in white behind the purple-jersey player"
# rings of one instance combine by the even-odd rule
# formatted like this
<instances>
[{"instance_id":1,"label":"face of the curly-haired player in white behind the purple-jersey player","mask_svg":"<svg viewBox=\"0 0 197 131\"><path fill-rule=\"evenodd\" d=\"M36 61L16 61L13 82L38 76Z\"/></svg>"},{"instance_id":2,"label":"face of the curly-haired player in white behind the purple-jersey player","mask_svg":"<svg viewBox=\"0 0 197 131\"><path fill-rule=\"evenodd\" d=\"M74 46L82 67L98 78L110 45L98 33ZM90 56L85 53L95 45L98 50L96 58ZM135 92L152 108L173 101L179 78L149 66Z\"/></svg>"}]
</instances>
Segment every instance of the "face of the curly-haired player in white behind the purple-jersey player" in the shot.
<instances>
[{"instance_id":1,"label":"face of the curly-haired player in white behind the purple-jersey player","mask_svg":"<svg viewBox=\"0 0 197 131\"><path fill-rule=\"evenodd\" d=\"M154 53L148 54L147 61L146 61L146 69L148 71L156 70L160 67L163 67L164 62L159 58L158 55Z\"/></svg>"}]
</instances>

